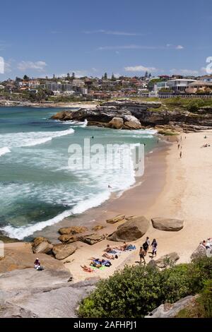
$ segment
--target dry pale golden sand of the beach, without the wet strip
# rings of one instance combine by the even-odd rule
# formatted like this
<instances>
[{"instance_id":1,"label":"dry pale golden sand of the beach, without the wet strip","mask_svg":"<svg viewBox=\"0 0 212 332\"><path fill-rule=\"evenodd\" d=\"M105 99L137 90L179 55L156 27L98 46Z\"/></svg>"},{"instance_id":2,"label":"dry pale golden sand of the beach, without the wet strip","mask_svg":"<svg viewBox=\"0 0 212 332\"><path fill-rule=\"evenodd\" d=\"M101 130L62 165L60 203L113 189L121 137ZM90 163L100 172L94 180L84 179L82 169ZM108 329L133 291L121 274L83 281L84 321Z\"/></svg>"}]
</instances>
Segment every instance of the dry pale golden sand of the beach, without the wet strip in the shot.
<instances>
[{"instance_id":1,"label":"dry pale golden sand of the beach, without the wet strip","mask_svg":"<svg viewBox=\"0 0 212 332\"><path fill-rule=\"evenodd\" d=\"M204 136L208 138L204 138ZM186 138L185 138L186 137ZM180 139L180 136L179 136ZM156 238L158 241L158 258L164 254L176 251L179 254L179 262L189 262L192 252L196 249L202 239L212 236L212 212L211 212L211 196L212 196L212 131L201 131L199 133L182 134L182 141L179 141L182 149L177 148L177 143L172 143L167 150L165 156L165 165L162 160L160 169L162 174L161 183L158 189L162 190L157 193L157 189L150 188L156 192L151 195L150 204L142 205L143 197L138 197L139 187L141 189L145 184L126 191L121 198L112 202L108 208L107 215L116 215L118 213L126 213L126 215L145 215L151 220L154 217L179 218L184 220L184 228L179 232L165 232L155 230L152 225L143 238L133 242L136 245L135 251L124 252L119 259L112 261L112 266L103 271L95 271L95 273L86 273L82 271L80 265L89 265L90 257L102 257L103 249L107 243L111 246L120 245L119 242L111 242L104 240L93 246L79 243L78 250L70 256L71 263L66 263L73 274L74 280L83 280L92 276L100 276L106 278L112 275L117 268L123 267L125 263L136 264L139 261L139 247L143 244L146 236L152 240ZM205 143L210 143L208 148L201 148ZM182 158L179 158L179 151L182 150ZM165 174L163 171L165 170ZM165 176L165 183L163 178ZM148 192L146 193L148 196ZM153 196L156 195L156 199ZM140 204L141 201L141 204ZM105 220L106 215L103 219ZM103 225L103 223L102 223ZM116 223L106 229L102 233L110 234L112 229L116 229L119 223ZM149 256L146 261L151 260Z\"/></svg>"}]
</instances>

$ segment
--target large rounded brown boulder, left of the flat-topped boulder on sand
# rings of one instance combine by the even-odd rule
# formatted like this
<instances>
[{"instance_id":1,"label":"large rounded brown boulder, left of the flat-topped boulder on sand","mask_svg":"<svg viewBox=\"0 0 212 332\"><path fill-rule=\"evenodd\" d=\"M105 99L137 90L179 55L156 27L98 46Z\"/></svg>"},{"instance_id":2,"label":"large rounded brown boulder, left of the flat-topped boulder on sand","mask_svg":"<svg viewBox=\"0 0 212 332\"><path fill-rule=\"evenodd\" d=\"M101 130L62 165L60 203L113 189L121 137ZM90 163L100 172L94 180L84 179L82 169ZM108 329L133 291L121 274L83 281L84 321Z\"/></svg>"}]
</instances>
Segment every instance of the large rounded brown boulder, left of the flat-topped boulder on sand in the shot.
<instances>
[{"instance_id":1,"label":"large rounded brown boulder, left of the flat-topped boulder on sand","mask_svg":"<svg viewBox=\"0 0 212 332\"><path fill-rule=\"evenodd\" d=\"M126 223L119 225L117 230L107 237L111 241L134 241L143 237L149 227L148 220L143 217L133 217L130 220L126 221Z\"/></svg>"}]
</instances>

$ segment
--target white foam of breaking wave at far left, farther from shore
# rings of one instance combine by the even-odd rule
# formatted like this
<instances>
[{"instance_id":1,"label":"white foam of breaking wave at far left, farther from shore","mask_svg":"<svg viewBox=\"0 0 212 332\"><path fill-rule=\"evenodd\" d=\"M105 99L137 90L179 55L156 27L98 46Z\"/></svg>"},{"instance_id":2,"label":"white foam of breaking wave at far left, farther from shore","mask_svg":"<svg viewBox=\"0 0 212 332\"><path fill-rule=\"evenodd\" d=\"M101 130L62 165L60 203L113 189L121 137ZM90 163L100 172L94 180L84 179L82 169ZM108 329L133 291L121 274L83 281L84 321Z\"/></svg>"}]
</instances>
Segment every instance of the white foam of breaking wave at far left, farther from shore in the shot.
<instances>
[{"instance_id":1,"label":"white foam of breaking wave at far left, farther from shore","mask_svg":"<svg viewBox=\"0 0 212 332\"><path fill-rule=\"evenodd\" d=\"M8 148L37 146L52 141L53 138L73 134L72 128L64 131L30 131L26 133L0 134L0 143Z\"/></svg>"}]
</instances>

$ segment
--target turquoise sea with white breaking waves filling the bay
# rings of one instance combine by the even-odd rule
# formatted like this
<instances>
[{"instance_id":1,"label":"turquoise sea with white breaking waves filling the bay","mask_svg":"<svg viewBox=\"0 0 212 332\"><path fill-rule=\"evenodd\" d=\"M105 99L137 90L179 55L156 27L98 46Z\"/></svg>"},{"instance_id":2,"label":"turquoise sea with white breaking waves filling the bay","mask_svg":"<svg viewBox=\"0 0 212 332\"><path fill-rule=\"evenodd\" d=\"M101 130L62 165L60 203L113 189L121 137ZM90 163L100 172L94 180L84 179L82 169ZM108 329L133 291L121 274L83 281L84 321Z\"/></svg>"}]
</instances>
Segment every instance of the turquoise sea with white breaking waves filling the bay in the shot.
<instances>
[{"instance_id":1,"label":"turquoise sea with white breaking waves filling the bay","mask_svg":"<svg viewBox=\"0 0 212 332\"><path fill-rule=\"evenodd\" d=\"M84 138L111 143L157 143L153 131L117 131L49 119L59 109L0 108L0 229L23 239L72 214L83 213L135 182L132 170L68 166L68 148ZM101 159L101 158L100 158ZM112 187L108 189L108 184Z\"/></svg>"}]
</instances>

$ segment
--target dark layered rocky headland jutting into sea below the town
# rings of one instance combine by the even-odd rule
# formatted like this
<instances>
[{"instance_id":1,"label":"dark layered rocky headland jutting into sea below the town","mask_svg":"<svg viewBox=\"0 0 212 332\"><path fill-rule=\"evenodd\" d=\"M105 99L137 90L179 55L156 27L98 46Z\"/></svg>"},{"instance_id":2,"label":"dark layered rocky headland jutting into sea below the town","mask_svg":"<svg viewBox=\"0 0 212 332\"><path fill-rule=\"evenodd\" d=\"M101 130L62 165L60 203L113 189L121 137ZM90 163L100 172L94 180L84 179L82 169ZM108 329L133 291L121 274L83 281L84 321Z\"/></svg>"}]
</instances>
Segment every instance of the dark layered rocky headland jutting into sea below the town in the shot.
<instances>
[{"instance_id":1,"label":"dark layered rocky headland jutting into sea below the town","mask_svg":"<svg viewBox=\"0 0 212 332\"><path fill-rule=\"evenodd\" d=\"M168 109L162 102L114 100L103 102L93 109L64 110L52 119L60 121L88 121L88 126L112 129L155 128L173 131L199 131L212 127L212 107L201 107L195 112L186 109ZM162 133L163 134L163 133Z\"/></svg>"}]
</instances>

